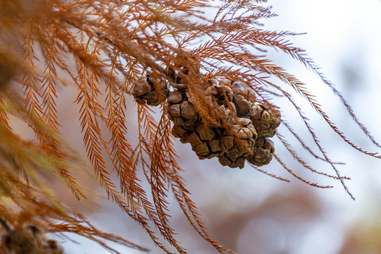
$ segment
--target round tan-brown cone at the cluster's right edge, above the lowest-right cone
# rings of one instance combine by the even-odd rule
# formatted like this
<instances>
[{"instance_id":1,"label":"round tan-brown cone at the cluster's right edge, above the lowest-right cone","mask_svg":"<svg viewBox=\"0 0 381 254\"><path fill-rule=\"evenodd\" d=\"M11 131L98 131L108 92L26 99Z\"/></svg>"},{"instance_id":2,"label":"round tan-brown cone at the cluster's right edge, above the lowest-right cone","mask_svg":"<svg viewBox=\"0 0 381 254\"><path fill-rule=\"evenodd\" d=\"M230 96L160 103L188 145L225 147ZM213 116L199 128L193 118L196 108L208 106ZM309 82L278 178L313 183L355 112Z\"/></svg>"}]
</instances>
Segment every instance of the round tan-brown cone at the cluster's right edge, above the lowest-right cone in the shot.
<instances>
[{"instance_id":1,"label":"round tan-brown cone at the cluster's right edge, above the lowest-right cone","mask_svg":"<svg viewBox=\"0 0 381 254\"><path fill-rule=\"evenodd\" d=\"M281 115L275 107L269 104L257 104L251 107L249 116L259 137L270 138L277 133Z\"/></svg>"}]
</instances>

